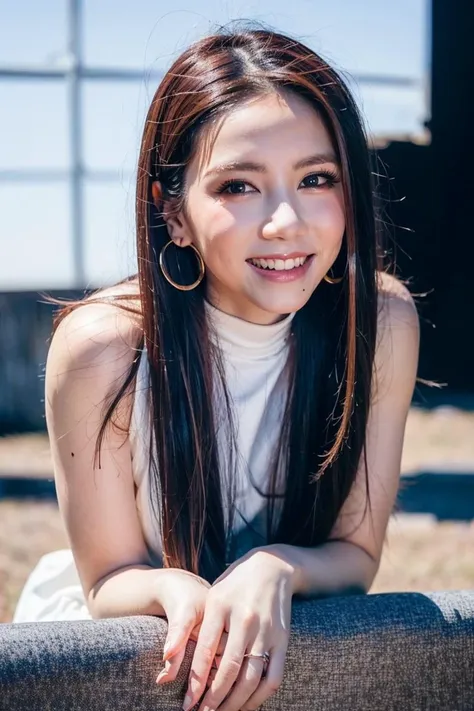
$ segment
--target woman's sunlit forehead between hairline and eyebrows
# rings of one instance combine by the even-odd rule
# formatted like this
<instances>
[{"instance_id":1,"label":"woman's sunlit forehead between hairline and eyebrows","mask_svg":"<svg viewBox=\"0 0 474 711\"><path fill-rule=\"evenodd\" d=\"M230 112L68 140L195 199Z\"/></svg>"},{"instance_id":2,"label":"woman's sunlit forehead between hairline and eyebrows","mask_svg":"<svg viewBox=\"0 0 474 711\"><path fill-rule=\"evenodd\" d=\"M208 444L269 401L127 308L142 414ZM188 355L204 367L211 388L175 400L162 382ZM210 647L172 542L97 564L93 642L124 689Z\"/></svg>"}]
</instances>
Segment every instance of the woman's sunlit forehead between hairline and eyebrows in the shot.
<instances>
[{"instance_id":1,"label":"woman's sunlit forehead between hairline and eyebrows","mask_svg":"<svg viewBox=\"0 0 474 711\"><path fill-rule=\"evenodd\" d=\"M277 151L294 162L309 153L329 153L332 147L317 110L300 96L278 92L246 101L204 126L189 178L199 179L227 160L251 159L256 151L262 159Z\"/></svg>"}]
</instances>

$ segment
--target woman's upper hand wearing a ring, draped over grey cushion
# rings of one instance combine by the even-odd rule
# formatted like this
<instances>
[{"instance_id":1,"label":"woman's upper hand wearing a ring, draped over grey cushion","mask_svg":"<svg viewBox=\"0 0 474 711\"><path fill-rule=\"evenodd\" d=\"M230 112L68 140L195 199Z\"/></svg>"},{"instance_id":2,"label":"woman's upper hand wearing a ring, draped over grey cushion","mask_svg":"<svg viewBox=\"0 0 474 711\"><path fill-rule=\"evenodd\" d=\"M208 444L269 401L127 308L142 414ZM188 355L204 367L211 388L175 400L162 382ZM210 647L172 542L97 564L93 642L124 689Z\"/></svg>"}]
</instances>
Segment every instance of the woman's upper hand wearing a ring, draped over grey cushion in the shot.
<instances>
[{"instance_id":1,"label":"woman's upper hand wearing a ring, draped over grey cushion","mask_svg":"<svg viewBox=\"0 0 474 711\"><path fill-rule=\"evenodd\" d=\"M277 546L249 551L232 563L208 592L191 663L184 709L250 711L281 684L290 634L295 569ZM206 685L223 633L218 669ZM268 652L270 662L245 654ZM230 692L230 693L229 693Z\"/></svg>"}]
</instances>

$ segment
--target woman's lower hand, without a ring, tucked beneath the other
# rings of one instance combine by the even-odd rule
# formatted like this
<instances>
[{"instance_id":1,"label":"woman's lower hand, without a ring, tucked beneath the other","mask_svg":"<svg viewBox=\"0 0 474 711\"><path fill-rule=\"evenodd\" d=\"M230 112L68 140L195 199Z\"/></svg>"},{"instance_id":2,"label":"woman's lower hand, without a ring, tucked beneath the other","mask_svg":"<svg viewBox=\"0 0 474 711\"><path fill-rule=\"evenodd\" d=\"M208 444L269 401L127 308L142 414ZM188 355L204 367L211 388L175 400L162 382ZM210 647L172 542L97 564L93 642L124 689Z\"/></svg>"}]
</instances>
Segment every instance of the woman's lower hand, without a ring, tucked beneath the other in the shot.
<instances>
[{"instance_id":1,"label":"woman's lower hand, without a ring, tucked beneath the other","mask_svg":"<svg viewBox=\"0 0 474 711\"><path fill-rule=\"evenodd\" d=\"M211 584L204 578L179 568L160 571L157 597L168 620L163 650L165 667L158 674L158 684L174 681L181 667L190 639L197 641ZM225 645L222 640L221 647ZM223 649L218 649L220 656Z\"/></svg>"}]
</instances>

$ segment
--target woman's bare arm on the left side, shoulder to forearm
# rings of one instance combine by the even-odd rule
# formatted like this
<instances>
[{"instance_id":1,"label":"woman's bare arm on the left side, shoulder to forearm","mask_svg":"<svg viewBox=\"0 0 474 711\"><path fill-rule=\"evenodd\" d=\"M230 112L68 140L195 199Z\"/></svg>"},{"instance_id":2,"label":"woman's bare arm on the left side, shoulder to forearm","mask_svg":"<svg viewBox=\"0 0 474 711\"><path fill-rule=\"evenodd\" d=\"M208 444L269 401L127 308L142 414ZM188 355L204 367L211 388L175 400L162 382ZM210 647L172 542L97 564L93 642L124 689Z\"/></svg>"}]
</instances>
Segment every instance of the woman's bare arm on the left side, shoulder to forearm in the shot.
<instances>
[{"instance_id":1,"label":"woman's bare arm on the left side, shoulder to forearm","mask_svg":"<svg viewBox=\"0 0 474 711\"><path fill-rule=\"evenodd\" d=\"M108 427L100 468L94 449L104 403L123 382L138 341L127 314L89 304L56 331L46 366L46 420L58 503L93 617L162 615L135 504L127 424L133 393Z\"/></svg>"}]
</instances>

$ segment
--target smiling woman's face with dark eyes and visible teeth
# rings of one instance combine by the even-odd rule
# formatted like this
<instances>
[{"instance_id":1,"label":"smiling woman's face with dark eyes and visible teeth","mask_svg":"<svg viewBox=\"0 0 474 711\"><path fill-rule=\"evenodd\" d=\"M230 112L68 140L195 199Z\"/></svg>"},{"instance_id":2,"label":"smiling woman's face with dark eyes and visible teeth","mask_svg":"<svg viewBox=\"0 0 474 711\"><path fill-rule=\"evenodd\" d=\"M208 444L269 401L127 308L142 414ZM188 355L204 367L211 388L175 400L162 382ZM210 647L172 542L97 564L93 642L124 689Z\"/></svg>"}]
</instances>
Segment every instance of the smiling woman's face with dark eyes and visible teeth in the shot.
<instances>
[{"instance_id":1,"label":"smiling woman's face with dark eyes and visible teeth","mask_svg":"<svg viewBox=\"0 0 474 711\"><path fill-rule=\"evenodd\" d=\"M168 230L200 251L212 304L272 323L304 306L337 257L340 167L319 115L288 92L240 106L211 131L186 170L186 214L168 217Z\"/></svg>"}]
</instances>

